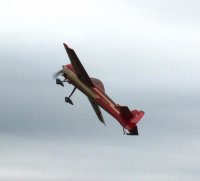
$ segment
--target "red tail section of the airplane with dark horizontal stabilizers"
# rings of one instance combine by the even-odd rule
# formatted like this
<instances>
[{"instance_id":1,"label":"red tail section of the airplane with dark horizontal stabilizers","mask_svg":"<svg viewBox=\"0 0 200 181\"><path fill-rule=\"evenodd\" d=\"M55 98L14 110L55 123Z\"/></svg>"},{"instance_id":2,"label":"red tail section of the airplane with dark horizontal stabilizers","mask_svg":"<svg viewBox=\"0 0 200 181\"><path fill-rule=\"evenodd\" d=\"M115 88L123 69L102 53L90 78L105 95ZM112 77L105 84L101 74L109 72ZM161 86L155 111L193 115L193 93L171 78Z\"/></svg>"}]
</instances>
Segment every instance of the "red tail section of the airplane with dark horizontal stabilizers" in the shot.
<instances>
[{"instance_id":1,"label":"red tail section of the airplane with dark horizontal stabilizers","mask_svg":"<svg viewBox=\"0 0 200 181\"><path fill-rule=\"evenodd\" d=\"M128 135L138 135L137 123L144 116L144 112L138 110L130 111L127 106L117 106L117 108L120 111L122 119L126 122L124 128L129 131Z\"/></svg>"}]
</instances>

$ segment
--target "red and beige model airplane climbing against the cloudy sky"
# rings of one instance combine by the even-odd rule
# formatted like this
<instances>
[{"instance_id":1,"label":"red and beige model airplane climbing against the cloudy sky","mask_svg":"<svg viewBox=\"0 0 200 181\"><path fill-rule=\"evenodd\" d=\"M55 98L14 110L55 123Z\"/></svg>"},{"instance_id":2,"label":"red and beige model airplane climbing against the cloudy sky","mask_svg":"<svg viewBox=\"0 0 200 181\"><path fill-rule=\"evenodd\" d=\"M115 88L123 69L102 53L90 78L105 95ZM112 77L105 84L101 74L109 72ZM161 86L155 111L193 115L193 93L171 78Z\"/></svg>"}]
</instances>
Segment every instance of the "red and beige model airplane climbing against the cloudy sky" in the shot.
<instances>
[{"instance_id":1,"label":"red and beige model airplane climbing against the cloudy sky","mask_svg":"<svg viewBox=\"0 0 200 181\"><path fill-rule=\"evenodd\" d=\"M124 134L138 135L137 123L144 116L144 112L138 110L130 111L127 106L116 104L105 93L103 83L96 78L89 77L74 50L69 48L66 44L63 45L67 51L71 64L63 65L62 70L55 73L54 77L56 78L56 83L61 86L64 86L65 82L74 86L69 97L65 97L65 102L73 105L70 98L75 90L79 89L88 97L98 119L103 124L105 124L105 121L101 114L100 107L107 111L121 124ZM57 77L59 75L63 76L64 80L58 79Z\"/></svg>"}]
</instances>

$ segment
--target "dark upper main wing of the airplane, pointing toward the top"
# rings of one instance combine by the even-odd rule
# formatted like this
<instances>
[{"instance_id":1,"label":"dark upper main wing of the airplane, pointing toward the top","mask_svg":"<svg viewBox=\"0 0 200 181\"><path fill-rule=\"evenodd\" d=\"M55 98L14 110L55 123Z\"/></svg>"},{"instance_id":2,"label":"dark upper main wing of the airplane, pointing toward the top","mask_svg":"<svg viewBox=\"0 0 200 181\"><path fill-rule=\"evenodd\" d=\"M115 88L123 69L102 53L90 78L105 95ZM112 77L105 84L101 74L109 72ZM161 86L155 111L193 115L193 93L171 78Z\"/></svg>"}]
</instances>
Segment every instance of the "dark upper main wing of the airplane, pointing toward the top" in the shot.
<instances>
[{"instance_id":1,"label":"dark upper main wing of the airplane, pointing toward the top","mask_svg":"<svg viewBox=\"0 0 200 181\"><path fill-rule=\"evenodd\" d=\"M78 78L87 86L94 87L94 84L92 83L89 75L85 71L83 65L81 64L80 60L78 59L78 56L76 55L75 51L71 48L69 48L65 43L63 43L65 50L67 51L67 54L69 56L69 59L71 61L71 64L78 76Z\"/></svg>"}]
</instances>

